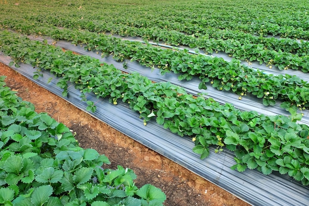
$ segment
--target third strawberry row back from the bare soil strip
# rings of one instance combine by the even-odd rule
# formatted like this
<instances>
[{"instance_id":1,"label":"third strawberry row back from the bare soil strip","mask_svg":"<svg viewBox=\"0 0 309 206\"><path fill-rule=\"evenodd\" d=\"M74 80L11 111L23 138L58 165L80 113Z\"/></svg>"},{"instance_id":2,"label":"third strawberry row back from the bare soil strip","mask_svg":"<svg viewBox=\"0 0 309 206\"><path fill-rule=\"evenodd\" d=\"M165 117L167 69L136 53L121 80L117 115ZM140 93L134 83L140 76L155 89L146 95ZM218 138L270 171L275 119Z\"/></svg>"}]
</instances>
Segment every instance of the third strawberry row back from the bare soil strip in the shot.
<instances>
[{"instance_id":1,"label":"third strawberry row back from the bare soil strip","mask_svg":"<svg viewBox=\"0 0 309 206\"><path fill-rule=\"evenodd\" d=\"M122 36L139 36L144 40L164 41L173 45L188 45L192 48L203 49L206 54L223 51L229 56L241 60L258 61L260 64L267 63L276 66L280 70L294 69L307 73L309 68L309 42L291 39L277 40L275 38L256 37L250 34L207 29L206 34L186 35L182 32L169 31L166 29L136 28L124 24L114 24L89 20L86 18L59 19L58 16L46 17L38 20L55 26L92 32L111 32ZM28 23L29 24L29 23ZM14 28L14 26L12 27ZM18 28L15 28L18 30ZM198 38L195 37L198 35Z\"/></svg>"}]
</instances>

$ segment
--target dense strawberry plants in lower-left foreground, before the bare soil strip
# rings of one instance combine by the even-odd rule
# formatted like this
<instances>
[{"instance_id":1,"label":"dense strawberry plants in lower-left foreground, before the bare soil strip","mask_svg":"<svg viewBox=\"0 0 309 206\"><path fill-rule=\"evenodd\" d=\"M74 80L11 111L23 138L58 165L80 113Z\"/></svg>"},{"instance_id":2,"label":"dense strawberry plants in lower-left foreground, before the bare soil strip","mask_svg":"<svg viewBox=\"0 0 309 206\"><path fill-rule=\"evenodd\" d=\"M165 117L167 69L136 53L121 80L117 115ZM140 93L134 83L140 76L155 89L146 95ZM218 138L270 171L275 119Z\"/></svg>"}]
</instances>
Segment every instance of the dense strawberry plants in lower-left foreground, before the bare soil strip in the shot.
<instances>
[{"instance_id":1,"label":"dense strawberry plants in lower-left foreground, before the bare soil strip","mask_svg":"<svg viewBox=\"0 0 309 206\"><path fill-rule=\"evenodd\" d=\"M162 206L162 191L135 186L133 170L82 149L68 127L16 96L0 77L0 204L3 206ZM130 203L130 204L128 204Z\"/></svg>"}]
</instances>

